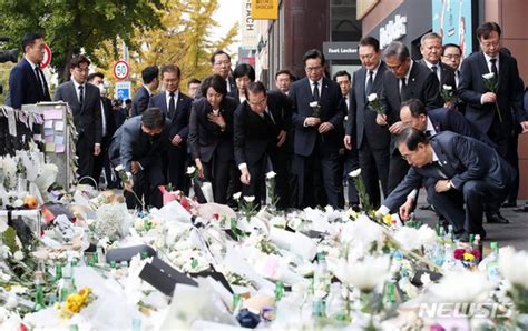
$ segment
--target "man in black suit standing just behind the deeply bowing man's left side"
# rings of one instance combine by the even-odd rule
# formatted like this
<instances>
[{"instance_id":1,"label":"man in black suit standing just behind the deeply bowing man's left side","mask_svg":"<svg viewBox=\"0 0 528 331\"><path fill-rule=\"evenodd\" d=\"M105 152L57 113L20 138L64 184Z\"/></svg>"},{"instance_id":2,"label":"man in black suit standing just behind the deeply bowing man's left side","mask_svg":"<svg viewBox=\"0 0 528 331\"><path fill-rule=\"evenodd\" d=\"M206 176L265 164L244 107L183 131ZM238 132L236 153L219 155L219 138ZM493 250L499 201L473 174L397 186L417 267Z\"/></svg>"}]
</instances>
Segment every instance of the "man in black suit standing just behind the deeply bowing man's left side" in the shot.
<instances>
[{"instance_id":1,"label":"man in black suit standing just behind the deeply bowing man's left side","mask_svg":"<svg viewBox=\"0 0 528 331\"><path fill-rule=\"evenodd\" d=\"M94 179L99 182L102 168L108 188L113 188L111 167L108 160L108 147L116 132L116 121L113 114L111 101L106 97L105 76L101 72L88 74L87 81L99 89L101 98L101 152L94 158Z\"/></svg>"}]
</instances>

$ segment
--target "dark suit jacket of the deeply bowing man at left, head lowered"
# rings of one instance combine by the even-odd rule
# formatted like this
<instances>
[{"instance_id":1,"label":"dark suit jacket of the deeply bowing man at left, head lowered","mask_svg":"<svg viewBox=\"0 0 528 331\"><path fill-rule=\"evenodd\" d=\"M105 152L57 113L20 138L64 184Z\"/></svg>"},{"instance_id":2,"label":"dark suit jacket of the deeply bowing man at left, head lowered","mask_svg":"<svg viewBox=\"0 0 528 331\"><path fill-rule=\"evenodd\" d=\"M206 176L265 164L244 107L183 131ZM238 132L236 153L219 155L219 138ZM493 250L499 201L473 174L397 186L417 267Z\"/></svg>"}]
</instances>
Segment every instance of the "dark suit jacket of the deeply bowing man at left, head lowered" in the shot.
<instances>
[{"instance_id":1,"label":"dark suit jacket of the deeply bowing man at left, head lowered","mask_svg":"<svg viewBox=\"0 0 528 331\"><path fill-rule=\"evenodd\" d=\"M166 119L160 134L151 137L141 130L141 117L128 119L111 138L108 157L114 167L123 164L130 171L131 161L139 161L144 169L160 159L168 147L170 122Z\"/></svg>"}]
</instances>

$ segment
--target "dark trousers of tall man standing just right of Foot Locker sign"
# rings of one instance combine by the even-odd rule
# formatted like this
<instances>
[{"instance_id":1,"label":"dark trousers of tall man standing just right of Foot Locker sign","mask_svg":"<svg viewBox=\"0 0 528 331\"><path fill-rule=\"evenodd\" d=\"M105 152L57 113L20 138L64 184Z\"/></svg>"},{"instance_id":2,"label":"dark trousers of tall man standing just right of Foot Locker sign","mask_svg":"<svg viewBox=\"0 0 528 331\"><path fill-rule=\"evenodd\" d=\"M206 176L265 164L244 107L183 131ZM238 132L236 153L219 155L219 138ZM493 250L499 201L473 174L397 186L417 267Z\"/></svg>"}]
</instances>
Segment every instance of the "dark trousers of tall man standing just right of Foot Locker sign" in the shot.
<instances>
[{"instance_id":1,"label":"dark trousers of tall man standing just right of Foot Locker sign","mask_svg":"<svg viewBox=\"0 0 528 331\"><path fill-rule=\"evenodd\" d=\"M363 139L366 139L363 138ZM389 147L385 149L371 149L369 143L363 142L359 150L361 177L365 183L366 194L369 194L370 203L378 209L381 205L380 183L383 197L388 197L389 183Z\"/></svg>"}]
</instances>

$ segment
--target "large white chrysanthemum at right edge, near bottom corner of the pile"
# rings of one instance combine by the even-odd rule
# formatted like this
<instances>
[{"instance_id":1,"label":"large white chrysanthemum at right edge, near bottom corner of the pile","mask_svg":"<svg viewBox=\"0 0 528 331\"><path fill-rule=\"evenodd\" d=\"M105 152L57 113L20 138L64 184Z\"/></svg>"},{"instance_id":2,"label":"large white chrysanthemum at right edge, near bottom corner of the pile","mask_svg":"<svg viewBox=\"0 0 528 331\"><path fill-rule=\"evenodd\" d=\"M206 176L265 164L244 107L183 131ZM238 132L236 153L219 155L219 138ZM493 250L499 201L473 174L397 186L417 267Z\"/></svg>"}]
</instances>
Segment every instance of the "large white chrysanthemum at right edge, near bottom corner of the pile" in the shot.
<instances>
[{"instance_id":1,"label":"large white chrysanthemum at right edge, near bottom corner of the pile","mask_svg":"<svg viewBox=\"0 0 528 331\"><path fill-rule=\"evenodd\" d=\"M500 250L500 272L514 285L528 289L528 252Z\"/></svg>"}]
</instances>

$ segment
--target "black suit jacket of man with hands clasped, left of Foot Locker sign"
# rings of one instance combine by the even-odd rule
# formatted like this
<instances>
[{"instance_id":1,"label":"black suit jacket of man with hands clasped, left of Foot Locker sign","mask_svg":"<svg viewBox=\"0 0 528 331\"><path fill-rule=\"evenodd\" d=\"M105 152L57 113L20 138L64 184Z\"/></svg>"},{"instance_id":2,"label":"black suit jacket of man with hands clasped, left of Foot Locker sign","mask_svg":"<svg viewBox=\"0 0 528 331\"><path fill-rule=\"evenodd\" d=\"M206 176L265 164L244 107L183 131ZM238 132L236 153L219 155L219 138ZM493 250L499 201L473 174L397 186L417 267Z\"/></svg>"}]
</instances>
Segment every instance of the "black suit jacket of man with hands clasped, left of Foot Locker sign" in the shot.
<instances>
[{"instance_id":1,"label":"black suit jacket of man with hands clasped, left of Foot Locker sign","mask_svg":"<svg viewBox=\"0 0 528 331\"><path fill-rule=\"evenodd\" d=\"M313 101L310 80L303 78L295 81L290 88L289 98L292 100L292 122L295 127L295 154L310 156L317 140L317 128L304 127L304 120L312 117L313 109L310 102ZM322 134L321 148L329 153L335 153L342 146L343 139L343 119L346 113L346 103L341 94L341 89L336 82L327 78L323 78L320 87L321 122L330 122L333 130Z\"/></svg>"}]
</instances>

